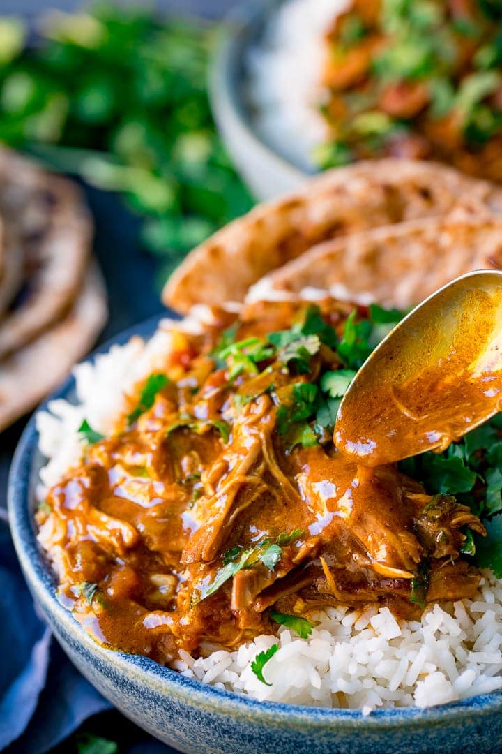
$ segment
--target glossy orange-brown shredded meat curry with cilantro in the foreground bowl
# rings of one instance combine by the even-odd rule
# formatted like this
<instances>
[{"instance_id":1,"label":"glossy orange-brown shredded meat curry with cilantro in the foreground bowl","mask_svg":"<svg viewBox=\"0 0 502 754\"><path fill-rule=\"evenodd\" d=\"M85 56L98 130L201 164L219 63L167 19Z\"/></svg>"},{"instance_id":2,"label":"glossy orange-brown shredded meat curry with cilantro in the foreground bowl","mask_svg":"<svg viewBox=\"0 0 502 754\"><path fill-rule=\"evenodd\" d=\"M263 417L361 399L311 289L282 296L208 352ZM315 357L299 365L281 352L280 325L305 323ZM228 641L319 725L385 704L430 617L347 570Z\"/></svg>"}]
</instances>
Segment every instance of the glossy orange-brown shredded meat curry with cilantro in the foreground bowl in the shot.
<instances>
[{"instance_id":1,"label":"glossy orange-brown shredded meat curry with cilantro in the foreground bowl","mask_svg":"<svg viewBox=\"0 0 502 754\"><path fill-rule=\"evenodd\" d=\"M339 397L367 356L367 310L333 299L213 310L173 331L109 437L36 513L59 599L104 645L169 663L274 633L328 605L471 597L461 551L479 519L395 465L333 445ZM275 618L274 618L275 616Z\"/></svg>"}]
</instances>

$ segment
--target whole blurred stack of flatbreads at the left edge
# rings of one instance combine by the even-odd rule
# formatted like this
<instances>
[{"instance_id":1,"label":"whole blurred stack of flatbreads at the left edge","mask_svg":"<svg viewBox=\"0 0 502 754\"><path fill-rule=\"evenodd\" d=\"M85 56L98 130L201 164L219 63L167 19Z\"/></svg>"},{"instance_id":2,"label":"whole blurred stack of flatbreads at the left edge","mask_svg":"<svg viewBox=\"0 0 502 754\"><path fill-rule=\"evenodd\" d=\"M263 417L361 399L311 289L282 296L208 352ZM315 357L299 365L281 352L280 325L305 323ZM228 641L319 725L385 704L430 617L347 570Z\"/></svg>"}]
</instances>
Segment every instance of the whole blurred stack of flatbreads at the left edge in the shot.
<instances>
[{"instance_id":1,"label":"whole blurred stack of flatbreads at the left edge","mask_svg":"<svg viewBox=\"0 0 502 754\"><path fill-rule=\"evenodd\" d=\"M105 323L92 231L75 185L0 150L0 431L63 379Z\"/></svg>"}]
</instances>

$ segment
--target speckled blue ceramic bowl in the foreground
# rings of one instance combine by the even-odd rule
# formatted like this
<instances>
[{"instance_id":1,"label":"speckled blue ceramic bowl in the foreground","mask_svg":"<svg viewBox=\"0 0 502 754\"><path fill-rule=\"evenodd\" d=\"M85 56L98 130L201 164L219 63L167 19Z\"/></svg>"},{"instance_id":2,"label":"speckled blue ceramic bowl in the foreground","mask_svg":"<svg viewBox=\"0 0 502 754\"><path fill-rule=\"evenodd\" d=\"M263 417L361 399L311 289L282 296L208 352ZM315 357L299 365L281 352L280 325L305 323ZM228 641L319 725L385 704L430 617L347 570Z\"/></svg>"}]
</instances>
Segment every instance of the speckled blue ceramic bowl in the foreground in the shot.
<instances>
[{"instance_id":1,"label":"speckled blue ceramic bowl in the foreground","mask_svg":"<svg viewBox=\"0 0 502 754\"><path fill-rule=\"evenodd\" d=\"M148 337L158 320L148 320L113 342L126 342L132 334ZM72 400L74 380L68 379L53 397ZM147 657L100 647L59 604L53 576L38 549L33 511L43 458L37 445L32 418L17 448L9 483L12 535L29 589L71 661L148 733L190 754L502 751L502 693L429 710L382 710L364 717L354 710L258 702L184 678Z\"/></svg>"}]
</instances>

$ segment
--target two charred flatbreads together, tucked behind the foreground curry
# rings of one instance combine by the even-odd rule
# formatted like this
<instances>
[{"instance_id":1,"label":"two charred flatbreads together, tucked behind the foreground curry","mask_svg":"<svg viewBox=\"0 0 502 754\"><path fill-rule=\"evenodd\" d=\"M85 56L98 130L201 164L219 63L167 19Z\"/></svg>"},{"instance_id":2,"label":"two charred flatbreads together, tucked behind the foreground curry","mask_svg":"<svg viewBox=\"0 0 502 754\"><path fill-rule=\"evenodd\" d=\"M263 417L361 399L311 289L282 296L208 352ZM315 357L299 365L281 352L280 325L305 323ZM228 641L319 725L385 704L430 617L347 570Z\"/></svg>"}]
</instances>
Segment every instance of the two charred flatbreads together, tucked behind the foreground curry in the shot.
<instances>
[{"instance_id":1,"label":"two charred flatbreads together, tucked behind the foreground curry","mask_svg":"<svg viewBox=\"0 0 502 754\"><path fill-rule=\"evenodd\" d=\"M407 308L502 267L502 189L445 165L385 159L324 173L193 250L163 290L196 303L321 297Z\"/></svg>"}]
</instances>

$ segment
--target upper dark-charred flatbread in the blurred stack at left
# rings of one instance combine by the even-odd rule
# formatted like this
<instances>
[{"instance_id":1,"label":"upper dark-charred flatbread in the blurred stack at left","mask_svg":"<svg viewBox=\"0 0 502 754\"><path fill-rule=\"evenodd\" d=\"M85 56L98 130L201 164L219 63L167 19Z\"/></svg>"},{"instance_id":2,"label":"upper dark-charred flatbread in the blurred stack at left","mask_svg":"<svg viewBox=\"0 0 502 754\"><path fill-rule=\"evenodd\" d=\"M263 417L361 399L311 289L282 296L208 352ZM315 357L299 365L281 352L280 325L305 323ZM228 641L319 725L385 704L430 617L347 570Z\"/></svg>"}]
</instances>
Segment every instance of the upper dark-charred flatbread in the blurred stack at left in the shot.
<instances>
[{"instance_id":1,"label":"upper dark-charred flatbread in the blurred stack at left","mask_svg":"<svg viewBox=\"0 0 502 754\"><path fill-rule=\"evenodd\" d=\"M25 286L22 305L0 320L2 359L71 308L87 266L92 224L73 183L8 150L0 150L0 214L7 238L6 271L17 274L19 288L23 265ZM16 287L11 284L6 293L17 292Z\"/></svg>"}]
</instances>

